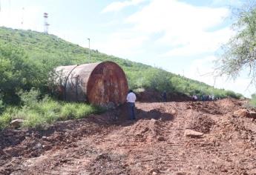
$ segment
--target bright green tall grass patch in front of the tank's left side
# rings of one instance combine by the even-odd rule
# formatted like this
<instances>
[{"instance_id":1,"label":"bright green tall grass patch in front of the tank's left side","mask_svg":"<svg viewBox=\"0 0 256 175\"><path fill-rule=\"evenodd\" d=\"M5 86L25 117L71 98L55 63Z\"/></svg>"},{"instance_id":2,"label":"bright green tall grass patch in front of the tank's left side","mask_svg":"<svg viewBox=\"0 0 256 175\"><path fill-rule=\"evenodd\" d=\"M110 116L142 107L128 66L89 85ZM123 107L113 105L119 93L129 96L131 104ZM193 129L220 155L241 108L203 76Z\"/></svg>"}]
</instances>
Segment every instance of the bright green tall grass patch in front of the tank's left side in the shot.
<instances>
[{"instance_id":1,"label":"bright green tall grass patch in front of the tank's left side","mask_svg":"<svg viewBox=\"0 0 256 175\"><path fill-rule=\"evenodd\" d=\"M8 107L0 116L0 130L7 128L13 119L24 119L22 128L42 128L57 121L81 119L102 111L102 108L92 105L59 102L47 97L20 108Z\"/></svg>"}]
</instances>

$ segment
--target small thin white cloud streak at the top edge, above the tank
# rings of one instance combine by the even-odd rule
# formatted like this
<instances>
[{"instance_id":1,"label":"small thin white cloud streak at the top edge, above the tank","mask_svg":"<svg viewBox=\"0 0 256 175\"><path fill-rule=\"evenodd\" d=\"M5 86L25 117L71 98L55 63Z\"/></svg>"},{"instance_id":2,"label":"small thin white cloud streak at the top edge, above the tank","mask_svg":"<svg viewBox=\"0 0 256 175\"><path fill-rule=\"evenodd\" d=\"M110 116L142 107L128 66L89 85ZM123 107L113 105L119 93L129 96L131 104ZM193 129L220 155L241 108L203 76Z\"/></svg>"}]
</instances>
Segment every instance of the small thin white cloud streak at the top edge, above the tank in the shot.
<instances>
[{"instance_id":1,"label":"small thin white cloud streak at the top edge, above the tank","mask_svg":"<svg viewBox=\"0 0 256 175\"><path fill-rule=\"evenodd\" d=\"M122 10L125 7L134 6L142 3L146 0L129 0L129 1L115 1L109 4L105 9L102 10L102 13L114 12Z\"/></svg>"}]
</instances>

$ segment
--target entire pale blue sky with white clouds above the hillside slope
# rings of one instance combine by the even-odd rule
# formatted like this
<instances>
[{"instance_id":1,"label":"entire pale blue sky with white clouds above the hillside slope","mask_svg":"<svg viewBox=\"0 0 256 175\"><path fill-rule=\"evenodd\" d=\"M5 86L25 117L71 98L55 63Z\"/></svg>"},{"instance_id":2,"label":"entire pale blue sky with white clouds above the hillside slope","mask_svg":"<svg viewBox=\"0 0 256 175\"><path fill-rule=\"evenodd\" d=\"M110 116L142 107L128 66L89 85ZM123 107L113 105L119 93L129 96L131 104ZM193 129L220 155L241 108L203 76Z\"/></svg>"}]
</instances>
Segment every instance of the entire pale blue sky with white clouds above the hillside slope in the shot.
<instances>
[{"instance_id":1,"label":"entire pale blue sky with white clouds above the hillside slope","mask_svg":"<svg viewBox=\"0 0 256 175\"><path fill-rule=\"evenodd\" d=\"M234 31L240 0L0 0L0 26L43 31L103 53L162 67L214 87L250 96L246 73L214 79L212 61ZM206 76L207 75L207 76Z\"/></svg>"}]
</instances>

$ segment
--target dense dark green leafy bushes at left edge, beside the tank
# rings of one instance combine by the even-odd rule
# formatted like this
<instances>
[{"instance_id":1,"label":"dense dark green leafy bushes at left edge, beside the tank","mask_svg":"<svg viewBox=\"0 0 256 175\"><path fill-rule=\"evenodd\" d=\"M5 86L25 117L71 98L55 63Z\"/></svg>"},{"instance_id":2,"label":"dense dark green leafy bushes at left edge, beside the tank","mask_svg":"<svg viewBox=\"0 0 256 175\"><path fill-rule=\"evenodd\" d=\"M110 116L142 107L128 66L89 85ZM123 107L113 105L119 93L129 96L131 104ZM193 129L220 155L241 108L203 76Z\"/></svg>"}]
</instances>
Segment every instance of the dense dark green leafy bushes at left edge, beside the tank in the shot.
<instances>
[{"instance_id":1,"label":"dense dark green leafy bushes at left edge, beside the tank","mask_svg":"<svg viewBox=\"0 0 256 175\"><path fill-rule=\"evenodd\" d=\"M18 47L0 44L0 96L3 102L17 105L21 90L46 88L47 74L51 67L45 65L29 58Z\"/></svg>"}]
</instances>

